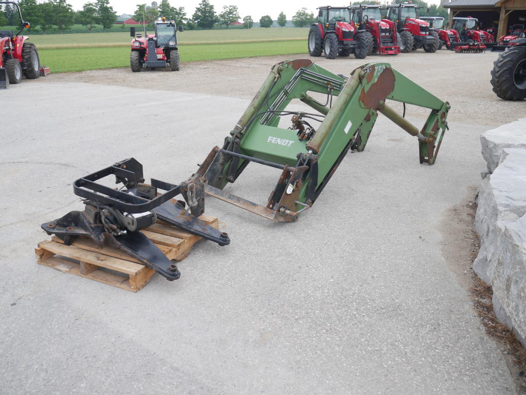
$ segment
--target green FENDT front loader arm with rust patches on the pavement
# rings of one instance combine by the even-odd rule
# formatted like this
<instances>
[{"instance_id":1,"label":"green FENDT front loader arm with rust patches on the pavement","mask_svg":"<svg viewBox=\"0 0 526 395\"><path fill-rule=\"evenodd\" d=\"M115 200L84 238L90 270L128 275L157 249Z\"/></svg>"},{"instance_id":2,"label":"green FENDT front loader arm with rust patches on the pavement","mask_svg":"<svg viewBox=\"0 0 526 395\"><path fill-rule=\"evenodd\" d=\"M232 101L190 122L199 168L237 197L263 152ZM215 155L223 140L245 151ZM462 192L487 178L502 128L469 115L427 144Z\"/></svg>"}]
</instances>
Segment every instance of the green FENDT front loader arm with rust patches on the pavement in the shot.
<instances>
[{"instance_id":1,"label":"green FENDT front loader arm with rust patches on the pavement","mask_svg":"<svg viewBox=\"0 0 526 395\"><path fill-rule=\"evenodd\" d=\"M312 97L316 94L326 95L327 103ZM295 99L314 112L287 110ZM422 129L398 115L387 99L431 109ZM347 78L309 59L288 60L272 67L223 147L210 152L197 174L205 178L207 195L274 221L296 221L316 201L349 149L363 151L378 113L415 136L420 163L432 165L449 109L449 103L388 63L363 65ZM279 126L285 116L292 116L289 128ZM282 169L266 207L222 190L251 161Z\"/></svg>"}]
</instances>

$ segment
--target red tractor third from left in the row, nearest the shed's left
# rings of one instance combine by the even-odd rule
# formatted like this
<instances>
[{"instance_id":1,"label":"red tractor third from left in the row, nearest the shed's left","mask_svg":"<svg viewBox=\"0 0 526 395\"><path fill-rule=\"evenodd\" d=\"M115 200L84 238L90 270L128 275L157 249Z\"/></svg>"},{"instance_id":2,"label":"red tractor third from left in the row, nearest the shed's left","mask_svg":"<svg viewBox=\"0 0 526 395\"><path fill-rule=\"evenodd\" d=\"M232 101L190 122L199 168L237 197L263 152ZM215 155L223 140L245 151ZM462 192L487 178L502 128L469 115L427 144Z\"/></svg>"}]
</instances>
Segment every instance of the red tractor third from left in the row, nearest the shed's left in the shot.
<instances>
[{"instance_id":1,"label":"red tractor third from left in the row, nearest the shed's left","mask_svg":"<svg viewBox=\"0 0 526 395\"><path fill-rule=\"evenodd\" d=\"M418 18L416 4L402 3L387 6L387 19L396 23L400 33L400 52L424 48L426 52L437 52L440 45L438 34L429 30L429 23Z\"/></svg>"}]
</instances>

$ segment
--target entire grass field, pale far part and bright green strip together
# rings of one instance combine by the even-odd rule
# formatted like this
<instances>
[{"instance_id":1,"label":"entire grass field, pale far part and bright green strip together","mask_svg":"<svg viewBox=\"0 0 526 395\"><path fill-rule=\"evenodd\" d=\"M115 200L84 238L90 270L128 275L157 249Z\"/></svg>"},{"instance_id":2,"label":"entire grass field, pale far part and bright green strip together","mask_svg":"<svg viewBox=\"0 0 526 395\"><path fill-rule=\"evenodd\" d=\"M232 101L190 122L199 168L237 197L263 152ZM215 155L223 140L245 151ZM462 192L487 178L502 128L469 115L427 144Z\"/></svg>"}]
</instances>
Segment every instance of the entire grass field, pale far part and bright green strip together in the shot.
<instances>
[{"instance_id":1,"label":"entire grass field, pale far part and bright green strip together","mask_svg":"<svg viewBox=\"0 0 526 395\"><path fill-rule=\"evenodd\" d=\"M178 33L181 62L307 52L307 28L253 28ZM33 35L52 73L129 66L129 33Z\"/></svg>"}]
</instances>

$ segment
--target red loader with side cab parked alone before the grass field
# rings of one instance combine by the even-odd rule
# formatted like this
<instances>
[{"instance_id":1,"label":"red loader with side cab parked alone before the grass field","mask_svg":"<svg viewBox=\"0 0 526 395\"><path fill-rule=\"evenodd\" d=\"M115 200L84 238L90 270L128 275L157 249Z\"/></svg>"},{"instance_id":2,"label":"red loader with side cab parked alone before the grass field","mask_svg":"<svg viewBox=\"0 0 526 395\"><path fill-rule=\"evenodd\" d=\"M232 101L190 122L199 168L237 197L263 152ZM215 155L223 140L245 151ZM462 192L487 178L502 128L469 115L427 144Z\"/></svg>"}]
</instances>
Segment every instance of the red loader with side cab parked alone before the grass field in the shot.
<instances>
[{"instance_id":1,"label":"red loader with side cab parked alone before the grass field","mask_svg":"<svg viewBox=\"0 0 526 395\"><path fill-rule=\"evenodd\" d=\"M179 71L179 51L177 48L177 26L175 21L166 18L157 19L154 23L155 34L135 33L135 27L130 28L131 53L130 68L132 72L140 72L143 67L170 67ZM179 26L179 32L183 26Z\"/></svg>"}]
</instances>

